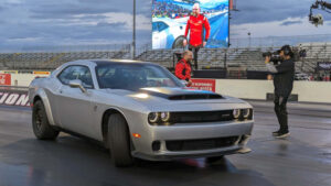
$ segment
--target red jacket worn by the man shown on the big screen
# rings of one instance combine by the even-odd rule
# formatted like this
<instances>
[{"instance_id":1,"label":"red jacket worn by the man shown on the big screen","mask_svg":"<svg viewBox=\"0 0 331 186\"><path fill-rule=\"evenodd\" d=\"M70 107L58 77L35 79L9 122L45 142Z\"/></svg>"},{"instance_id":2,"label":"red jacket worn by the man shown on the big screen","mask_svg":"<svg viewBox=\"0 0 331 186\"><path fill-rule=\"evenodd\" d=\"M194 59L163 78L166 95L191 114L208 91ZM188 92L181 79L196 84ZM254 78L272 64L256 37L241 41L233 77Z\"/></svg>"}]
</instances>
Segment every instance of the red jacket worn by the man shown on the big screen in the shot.
<instances>
[{"instance_id":1,"label":"red jacket worn by the man shown on the big screen","mask_svg":"<svg viewBox=\"0 0 331 186\"><path fill-rule=\"evenodd\" d=\"M199 14L197 17L191 15L188 20L185 37L190 30L190 45L193 47L201 47L203 44L203 29L205 29L205 37L207 41L210 39L211 25L209 20L203 15Z\"/></svg>"}]
</instances>

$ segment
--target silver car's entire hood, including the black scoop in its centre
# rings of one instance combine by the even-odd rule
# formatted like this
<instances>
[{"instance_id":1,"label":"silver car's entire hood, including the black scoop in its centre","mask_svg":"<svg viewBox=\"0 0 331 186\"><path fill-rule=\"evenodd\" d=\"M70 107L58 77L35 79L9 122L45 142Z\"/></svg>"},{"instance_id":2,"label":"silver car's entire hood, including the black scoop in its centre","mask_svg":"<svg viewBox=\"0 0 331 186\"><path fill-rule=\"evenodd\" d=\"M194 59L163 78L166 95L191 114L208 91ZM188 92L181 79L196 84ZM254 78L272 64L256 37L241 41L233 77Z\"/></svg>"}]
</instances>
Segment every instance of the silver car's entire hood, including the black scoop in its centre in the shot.
<instances>
[{"instance_id":1,"label":"silver car's entire hood, including the black scoop in its centre","mask_svg":"<svg viewBox=\"0 0 331 186\"><path fill-rule=\"evenodd\" d=\"M138 91L108 89L109 94L126 97L151 110L210 110L221 109L220 106L243 105L247 102L237 98L221 96L205 90L190 88L141 88Z\"/></svg>"}]
</instances>

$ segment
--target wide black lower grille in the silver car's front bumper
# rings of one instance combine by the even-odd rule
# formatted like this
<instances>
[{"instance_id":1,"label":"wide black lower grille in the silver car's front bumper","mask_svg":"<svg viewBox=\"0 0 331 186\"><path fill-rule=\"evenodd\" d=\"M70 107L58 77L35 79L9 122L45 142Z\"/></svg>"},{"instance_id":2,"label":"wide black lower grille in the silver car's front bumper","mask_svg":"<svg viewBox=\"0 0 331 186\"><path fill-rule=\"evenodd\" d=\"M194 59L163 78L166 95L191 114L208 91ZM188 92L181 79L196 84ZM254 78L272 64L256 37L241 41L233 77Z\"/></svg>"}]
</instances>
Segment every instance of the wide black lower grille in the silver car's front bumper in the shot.
<instances>
[{"instance_id":1,"label":"wide black lower grille in the silver car's front bumper","mask_svg":"<svg viewBox=\"0 0 331 186\"><path fill-rule=\"evenodd\" d=\"M205 139L205 140L177 140L177 141L166 141L166 145L168 151L212 150L212 149L232 146L237 140L238 136L227 136L227 138Z\"/></svg>"}]
</instances>

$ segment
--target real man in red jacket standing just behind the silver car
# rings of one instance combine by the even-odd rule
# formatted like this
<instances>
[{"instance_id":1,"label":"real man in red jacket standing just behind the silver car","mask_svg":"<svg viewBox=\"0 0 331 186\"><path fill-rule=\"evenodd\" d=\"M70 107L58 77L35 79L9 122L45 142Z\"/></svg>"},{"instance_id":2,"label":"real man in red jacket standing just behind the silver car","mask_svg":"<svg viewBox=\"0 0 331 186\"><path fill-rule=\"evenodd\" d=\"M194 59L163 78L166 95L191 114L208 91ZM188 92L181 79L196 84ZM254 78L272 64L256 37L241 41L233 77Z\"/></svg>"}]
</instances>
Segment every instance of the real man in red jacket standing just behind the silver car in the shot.
<instances>
[{"instance_id":1,"label":"real man in red jacket standing just behind the silver car","mask_svg":"<svg viewBox=\"0 0 331 186\"><path fill-rule=\"evenodd\" d=\"M174 68L174 75L181 79L181 80L186 80L188 81L188 87L190 87L192 85L191 81L191 64L190 62L193 58L193 54L191 51L185 51L183 53L183 58L180 59Z\"/></svg>"}]
</instances>

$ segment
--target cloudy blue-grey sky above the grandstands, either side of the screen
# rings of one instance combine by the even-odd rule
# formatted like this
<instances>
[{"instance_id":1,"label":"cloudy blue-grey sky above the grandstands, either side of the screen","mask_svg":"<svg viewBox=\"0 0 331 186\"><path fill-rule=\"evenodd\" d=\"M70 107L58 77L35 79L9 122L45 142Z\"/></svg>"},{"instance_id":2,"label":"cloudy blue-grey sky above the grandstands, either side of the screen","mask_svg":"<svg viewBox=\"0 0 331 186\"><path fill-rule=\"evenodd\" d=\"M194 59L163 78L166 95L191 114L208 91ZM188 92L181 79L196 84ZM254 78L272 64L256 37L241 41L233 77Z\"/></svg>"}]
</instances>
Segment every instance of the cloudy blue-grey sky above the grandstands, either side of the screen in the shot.
<instances>
[{"instance_id":1,"label":"cloudy blue-grey sky above the grandstands, either side of the screen","mask_svg":"<svg viewBox=\"0 0 331 186\"><path fill-rule=\"evenodd\" d=\"M308 22L313 1L237 0L239 11L232 14L231 36L331 34L330 14L321 12L323 26ZM0 0L0 50L130 43L131 12L132 0ZM138 45L151 40L150 14L151 0L137 0Z\"/></svg>"}]
</instances>

